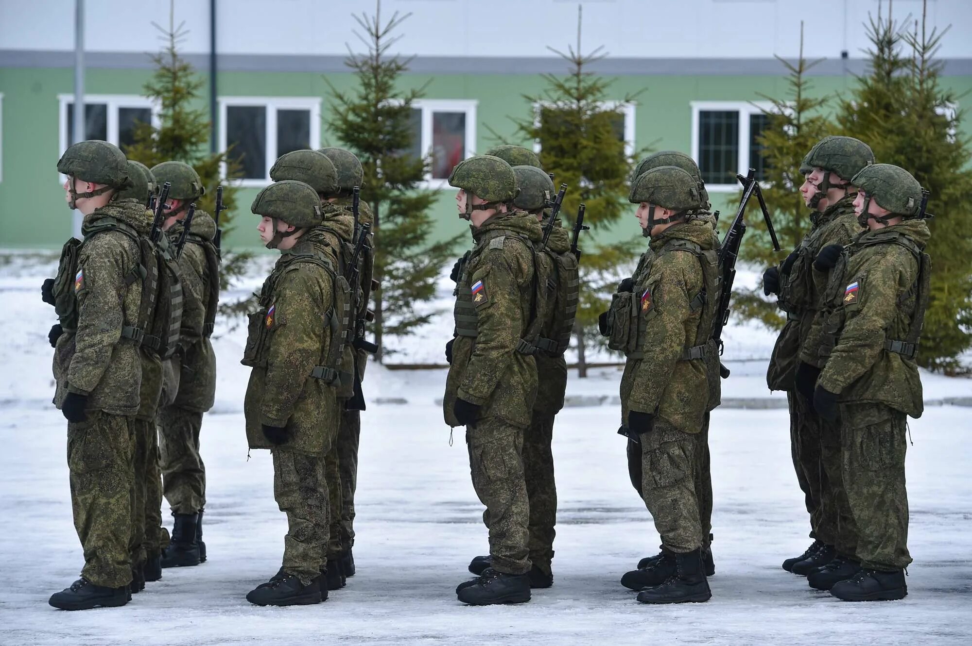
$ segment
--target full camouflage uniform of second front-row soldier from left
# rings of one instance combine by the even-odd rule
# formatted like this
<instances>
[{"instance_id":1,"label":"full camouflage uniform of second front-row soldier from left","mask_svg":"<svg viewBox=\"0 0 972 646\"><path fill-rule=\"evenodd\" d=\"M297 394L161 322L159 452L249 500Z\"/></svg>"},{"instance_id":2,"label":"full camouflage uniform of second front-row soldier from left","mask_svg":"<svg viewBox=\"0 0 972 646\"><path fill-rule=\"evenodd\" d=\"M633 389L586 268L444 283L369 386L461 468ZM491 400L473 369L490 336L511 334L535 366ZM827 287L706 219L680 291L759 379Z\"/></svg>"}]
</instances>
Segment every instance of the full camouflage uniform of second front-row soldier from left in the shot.
<instances>
[{"instance_id":1,"label":"full camouflage uniform of second front-row soldier from left","mask_svg":"<svg viewBox=\"0 0 972 646\"><path fill-rule=\"evenodd\" d=\"M260 289L260 309L250 314L242 362L253 368L247 438L251 448L272 450L274 497L288 521L283 566L303 585L325 566L330 483L323 457L340 414L334 387L311 376L330 351L334 275L321 238L320 228L312 228L281 254ZM274 446L264 424L286 427L287 440Z\"/></svg>"}]
</instances>

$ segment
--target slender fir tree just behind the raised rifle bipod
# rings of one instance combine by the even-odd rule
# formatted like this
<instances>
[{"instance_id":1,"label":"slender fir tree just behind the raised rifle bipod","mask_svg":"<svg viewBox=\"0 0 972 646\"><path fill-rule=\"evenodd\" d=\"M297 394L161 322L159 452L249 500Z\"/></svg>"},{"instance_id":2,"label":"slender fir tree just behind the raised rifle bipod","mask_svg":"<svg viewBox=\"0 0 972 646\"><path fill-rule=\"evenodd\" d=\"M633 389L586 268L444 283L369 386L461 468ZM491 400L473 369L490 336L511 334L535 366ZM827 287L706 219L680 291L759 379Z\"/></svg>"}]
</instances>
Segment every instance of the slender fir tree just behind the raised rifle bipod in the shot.
<instances>
[{"instance_id":1,"label":"slender fir tree just behind the raised rifle bipod","mask_svg":"<svg viewBox=\"0 0 972 646\"><path fill-rule=\"evenodd\" d=\"M758 141L764 155L763 196L771 210L773 228L782 251L774 251L759 205L756 200L750 200L741 256L759 270L780 262L781 256L796 248L810 229L810 210L799 192L804 179L800 174L800 162L811 147L835 129L822 112L829 98L814 96L807 77L820 61L807 61L803 57L802 22L799 60L795 65L780 56L777 60L789 72L788 93L784 99L759 95L773 105L763 111L768 122ZM780 329L786 322L776 299L765 298L761 285L754 289L737 288L733 308L740 318L758 320L771 329Z\"/></svg>"}]
</instances>

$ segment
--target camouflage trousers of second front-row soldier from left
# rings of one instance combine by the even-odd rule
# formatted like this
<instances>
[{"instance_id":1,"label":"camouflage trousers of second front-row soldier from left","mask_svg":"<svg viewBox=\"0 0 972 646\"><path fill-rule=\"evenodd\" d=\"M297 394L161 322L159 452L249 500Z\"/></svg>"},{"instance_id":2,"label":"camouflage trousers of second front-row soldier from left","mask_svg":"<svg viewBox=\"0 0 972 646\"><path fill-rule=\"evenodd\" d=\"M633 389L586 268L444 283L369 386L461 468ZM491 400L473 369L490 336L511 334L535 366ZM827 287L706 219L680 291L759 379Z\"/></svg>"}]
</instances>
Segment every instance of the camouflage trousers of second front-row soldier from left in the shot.
<instances>
[{"instance_id":1,"label":"camouflage trousers of second front-row soldier from left","mask_svg":"<svg viewBox=\"0 0 972 646\"><path fill-rule=\"evenodd\" d=\"M320 456L275 448L273 498L287 514L284 571L308 585L325 566L328 544L328 479Z\"/></svg>"}]
</instances>

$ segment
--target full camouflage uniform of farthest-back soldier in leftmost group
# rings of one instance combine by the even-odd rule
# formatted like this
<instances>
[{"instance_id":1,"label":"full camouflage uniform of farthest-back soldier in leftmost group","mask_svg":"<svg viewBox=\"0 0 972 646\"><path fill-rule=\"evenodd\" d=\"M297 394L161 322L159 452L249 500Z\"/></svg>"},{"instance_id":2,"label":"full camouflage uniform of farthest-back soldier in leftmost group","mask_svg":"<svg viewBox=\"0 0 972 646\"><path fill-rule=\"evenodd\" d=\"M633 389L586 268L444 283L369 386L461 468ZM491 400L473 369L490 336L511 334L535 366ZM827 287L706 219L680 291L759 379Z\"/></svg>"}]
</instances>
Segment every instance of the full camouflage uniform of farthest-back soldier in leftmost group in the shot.
<instances>
[{"instance_id":1,"label":"full camouflage uniform of farthest-back soldier in leftmost group","mask_svg":"<svg viewBox=\"0 0 972 646\"><path fill-rule=\"evenodd\" d=\"M166 232L170 241L178 240L182 222ZM183 315L180 349L165 362L162 407L158 413L162 486L172 512L194 514L206 504L206 468L199 454L202 414L213 406L216 397L216 356L206 327L207 307L213 293L219 293L219 274L214 271L212 246L216 222L205 211L192 216L179 259L179 278L183 283Z\"/></svg>"}]
</instances>

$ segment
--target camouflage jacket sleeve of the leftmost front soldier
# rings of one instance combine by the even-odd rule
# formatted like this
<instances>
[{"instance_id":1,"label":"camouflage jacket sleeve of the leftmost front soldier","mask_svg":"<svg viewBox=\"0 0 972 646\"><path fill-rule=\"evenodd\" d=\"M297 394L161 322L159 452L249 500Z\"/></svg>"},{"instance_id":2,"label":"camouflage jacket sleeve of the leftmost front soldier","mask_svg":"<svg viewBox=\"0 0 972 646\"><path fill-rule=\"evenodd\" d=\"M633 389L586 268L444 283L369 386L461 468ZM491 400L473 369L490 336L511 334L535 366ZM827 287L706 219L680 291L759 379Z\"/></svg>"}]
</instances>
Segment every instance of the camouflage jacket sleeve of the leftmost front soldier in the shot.
<instances>
[{"instance_id":1,"label":"camouflage jacket sleeve of the leftmost front soldier","mask_svg":"<svg viewBox=\"0 0 972 646\"><path fill-rule=\"evenodd\" d=\"M112 349L124 325L122 301L128 289L140 289L125 276L135 267L137 251L121 233L103 233L86 242L75 278L78 331L68 369L69 390L87 395L98 385L112 360Z\"/></svg>"}]
</instances>

